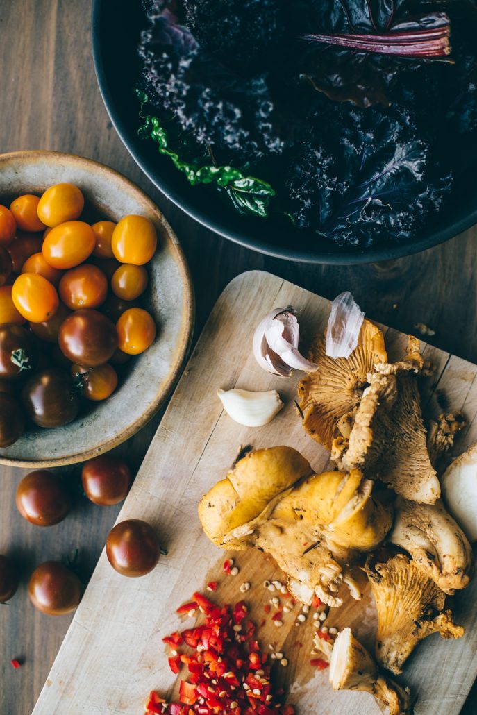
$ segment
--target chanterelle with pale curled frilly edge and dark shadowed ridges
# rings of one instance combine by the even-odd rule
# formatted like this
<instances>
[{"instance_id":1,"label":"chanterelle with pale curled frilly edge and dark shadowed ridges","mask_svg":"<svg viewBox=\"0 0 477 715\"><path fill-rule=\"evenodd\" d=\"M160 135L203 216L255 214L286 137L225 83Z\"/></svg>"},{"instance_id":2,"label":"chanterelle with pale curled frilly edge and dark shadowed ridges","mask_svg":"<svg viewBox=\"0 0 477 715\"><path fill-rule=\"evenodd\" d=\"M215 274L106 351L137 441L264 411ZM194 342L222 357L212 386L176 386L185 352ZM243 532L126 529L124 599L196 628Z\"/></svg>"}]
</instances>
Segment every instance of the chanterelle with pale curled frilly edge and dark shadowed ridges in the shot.
<instances>
[{"instance_id":1,"label":"chanterelle with pale curled frilly edge and dark shadowed ridges","mask_svg":"<svg viewBox=\"0 0 477 715\"><path fill-rule=\"evenodd\" d=\"M441 487L428 454L414 374L424 366L418 345L410 336L403 360L375 365L349 438L335 439L331 457L343 470L360 469L405 498L432 504Z\"/></svg>"}]
</instances>

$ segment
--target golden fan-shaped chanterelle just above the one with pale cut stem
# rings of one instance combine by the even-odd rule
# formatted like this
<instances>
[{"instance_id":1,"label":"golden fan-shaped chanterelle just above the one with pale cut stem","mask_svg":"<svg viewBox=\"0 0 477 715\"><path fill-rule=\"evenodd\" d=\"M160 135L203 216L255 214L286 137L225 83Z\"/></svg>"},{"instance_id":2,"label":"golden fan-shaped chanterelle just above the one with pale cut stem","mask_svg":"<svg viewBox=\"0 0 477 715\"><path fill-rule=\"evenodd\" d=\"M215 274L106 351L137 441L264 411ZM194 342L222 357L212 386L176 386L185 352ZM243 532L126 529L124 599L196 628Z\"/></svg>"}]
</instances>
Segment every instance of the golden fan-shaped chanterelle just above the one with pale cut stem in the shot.
<instances>
[{"instance_id":1,"label":"golden fan-shaped chanterelle just above the one with pale cut stem","mask_svg":"<svg viewBox=\"0 0 477 715\"><path fill-rule=\"evenodd\" d=\"M415 646L431 633L460 638L462 626L444 611L446 594L408 556L398 553L374 566L368 560L366 573L378 609L375 654L378 663L400 673Z\"/></svg>"}]
</instances>

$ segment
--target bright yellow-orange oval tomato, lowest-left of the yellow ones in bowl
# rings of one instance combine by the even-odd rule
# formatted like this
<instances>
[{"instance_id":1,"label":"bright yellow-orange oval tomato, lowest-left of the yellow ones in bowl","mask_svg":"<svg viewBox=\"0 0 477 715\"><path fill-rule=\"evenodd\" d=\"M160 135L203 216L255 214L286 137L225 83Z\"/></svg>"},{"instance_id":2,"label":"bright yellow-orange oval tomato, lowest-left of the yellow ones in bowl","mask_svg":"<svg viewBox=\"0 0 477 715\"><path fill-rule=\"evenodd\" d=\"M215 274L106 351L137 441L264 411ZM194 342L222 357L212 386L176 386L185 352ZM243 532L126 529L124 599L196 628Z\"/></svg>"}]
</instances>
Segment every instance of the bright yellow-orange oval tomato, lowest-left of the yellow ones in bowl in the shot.
<instances>
[{"instance_id":1,"label":"bright yellow-orange oval tomato, lowest-left of the yellow ones in bowl","mask_svg":"<svg viewBox=\"0 0 477 715\"><path fill-rule=\"evenodd\" d=\"M30 322L44 322L58 310L56 288L38 273L22 273L11 289L16 310Z\"/></svg>"}]
</instances>

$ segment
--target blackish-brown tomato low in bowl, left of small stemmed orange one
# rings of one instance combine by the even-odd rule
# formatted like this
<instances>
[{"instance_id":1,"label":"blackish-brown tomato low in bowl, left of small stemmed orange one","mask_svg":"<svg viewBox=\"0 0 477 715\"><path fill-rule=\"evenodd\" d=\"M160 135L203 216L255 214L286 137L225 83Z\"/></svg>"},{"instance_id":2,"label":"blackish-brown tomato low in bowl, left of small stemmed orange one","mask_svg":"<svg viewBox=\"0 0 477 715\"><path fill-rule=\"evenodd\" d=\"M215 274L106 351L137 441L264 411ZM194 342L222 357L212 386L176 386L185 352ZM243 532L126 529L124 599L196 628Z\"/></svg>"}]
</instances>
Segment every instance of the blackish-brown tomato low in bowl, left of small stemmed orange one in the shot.
<instances>
[{"instance_id":1,"label":"blackish-brown tomato low in bowl, left of small stemmed orange one","mask_svg":"<svg viewBox=\"0 0 477 715\"><path fill-rule=\"evenodd\" d=\"M21 391L29 418L39 427L61 427L79 412L80 399L73 380L59 368L46 368L32 375Z\"/></svg>"}]
</instances>

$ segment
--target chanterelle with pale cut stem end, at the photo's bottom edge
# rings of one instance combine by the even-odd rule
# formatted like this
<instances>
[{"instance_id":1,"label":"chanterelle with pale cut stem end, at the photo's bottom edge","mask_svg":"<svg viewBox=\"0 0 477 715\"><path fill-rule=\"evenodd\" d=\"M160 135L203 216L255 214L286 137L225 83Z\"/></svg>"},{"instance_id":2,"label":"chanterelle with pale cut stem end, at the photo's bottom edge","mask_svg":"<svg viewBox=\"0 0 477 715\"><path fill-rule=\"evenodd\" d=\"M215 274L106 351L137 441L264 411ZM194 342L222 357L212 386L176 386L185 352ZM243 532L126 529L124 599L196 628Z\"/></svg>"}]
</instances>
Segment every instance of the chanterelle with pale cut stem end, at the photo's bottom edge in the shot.
<instances>
[{"instance_id":1,"label":"chanterelle with pale cut stem end, at the photo's bottom edge","mask_svg":"<svg viewBox=\"0 0 477 715\"><path fill-rule=\"evenodd\" d=\"M410 691L380 673L374 659L350 628L343 628L335 640L330 660L330 683L334 690L371 693L388 706L389 715L406 715L413 711Z\"/></svg>"}]
</instances>

